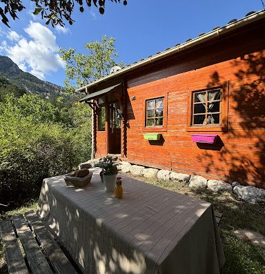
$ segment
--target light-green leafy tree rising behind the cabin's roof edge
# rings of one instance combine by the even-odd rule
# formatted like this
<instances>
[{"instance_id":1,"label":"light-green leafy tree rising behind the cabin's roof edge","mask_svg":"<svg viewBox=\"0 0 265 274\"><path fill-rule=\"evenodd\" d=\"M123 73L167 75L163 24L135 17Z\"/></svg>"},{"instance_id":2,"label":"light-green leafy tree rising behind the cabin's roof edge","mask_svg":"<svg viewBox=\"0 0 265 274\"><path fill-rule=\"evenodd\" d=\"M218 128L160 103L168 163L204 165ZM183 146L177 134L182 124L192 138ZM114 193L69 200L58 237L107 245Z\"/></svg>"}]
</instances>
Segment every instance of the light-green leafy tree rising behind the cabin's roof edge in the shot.
<instances>
[{"instance_id":1,"label":"light-green leafy tree rising behind the cabin's roof edge","mask_svg":"<svg viewBox=\"0 0 265 274\"><path fill-rule=\"evenodd\" d=\"M116 65L118 55L115 49L115 39L104 35L101 41L86 43L88 54L77 53L75 49L59 52L61 58L66 61L66 80L64 81L66 93L74 93L77 86L83 86L110 72L110 68ZM124 63L120 62L123 67Z\"/></svg>"}]
</instances>

